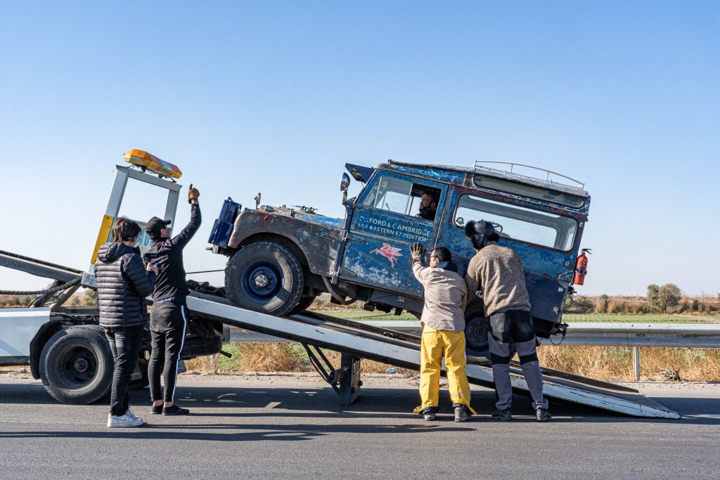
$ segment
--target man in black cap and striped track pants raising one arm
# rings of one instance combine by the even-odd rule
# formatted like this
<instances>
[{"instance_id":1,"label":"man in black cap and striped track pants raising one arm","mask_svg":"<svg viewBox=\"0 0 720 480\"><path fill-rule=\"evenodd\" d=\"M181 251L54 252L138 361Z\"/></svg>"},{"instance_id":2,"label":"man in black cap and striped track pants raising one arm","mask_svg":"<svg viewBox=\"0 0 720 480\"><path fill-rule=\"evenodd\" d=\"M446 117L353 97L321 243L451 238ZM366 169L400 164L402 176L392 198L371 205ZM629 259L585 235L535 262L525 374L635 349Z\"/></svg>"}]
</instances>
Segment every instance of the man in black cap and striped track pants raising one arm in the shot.
<instances>
[{"instance_id":1,"label":"man in black cap and striped track pants raising one arm","mask_svg":"<svg viewBox=\"0 0 720 480\"><path fill-rule=\"evenodd\" d=\"M190 222L175 237L170 237L170 220L153 217L145 225L153 245L145 253L150 265L158 267L158 278L153 289L153 309L150 312L150 344L152 350L148 362L152 413L162 415L187 415L189 410L174 403L180 353L187 331L186 296L189 293L185 281L182 250L200 227L200 192L188 189L191 204ZM165 391L160 387L163 377Z\"/></svg>"}]
</instances>

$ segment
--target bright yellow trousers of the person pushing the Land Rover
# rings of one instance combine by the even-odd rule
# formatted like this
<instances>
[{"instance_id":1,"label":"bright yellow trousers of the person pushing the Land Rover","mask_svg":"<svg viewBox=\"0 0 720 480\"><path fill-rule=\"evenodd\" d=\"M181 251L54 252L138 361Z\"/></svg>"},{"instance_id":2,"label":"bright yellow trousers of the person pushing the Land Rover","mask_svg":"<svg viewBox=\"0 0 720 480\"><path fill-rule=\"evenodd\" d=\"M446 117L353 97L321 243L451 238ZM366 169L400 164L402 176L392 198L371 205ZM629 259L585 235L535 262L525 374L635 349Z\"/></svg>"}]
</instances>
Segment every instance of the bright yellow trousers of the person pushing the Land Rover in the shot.
<instances>
[{"instance_id":1,"label":"bright yellow trousers of the person pushing the Land Rover","mask_svg":"<svg viewBox=\"0 0 720 480\"><path fill-rule=\"evenodd\" d=\"M420 343L420 399L419 409L437 407L440 395L441 362L445 357L448 389L453 403L470 408L470 386L465 373L465 333L435 330L425 325Z\"/></svg>"}]
</instances>

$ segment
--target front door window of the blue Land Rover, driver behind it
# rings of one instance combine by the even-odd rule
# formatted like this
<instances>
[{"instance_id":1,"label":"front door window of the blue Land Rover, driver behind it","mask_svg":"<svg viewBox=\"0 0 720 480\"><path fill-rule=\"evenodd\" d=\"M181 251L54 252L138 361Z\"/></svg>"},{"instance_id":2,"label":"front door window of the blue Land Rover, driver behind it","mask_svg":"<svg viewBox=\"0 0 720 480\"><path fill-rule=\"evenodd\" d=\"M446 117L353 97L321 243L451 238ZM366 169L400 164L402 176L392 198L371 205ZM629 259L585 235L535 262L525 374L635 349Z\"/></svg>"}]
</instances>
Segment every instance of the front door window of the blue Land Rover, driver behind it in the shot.
<instances>
[{"instance_id":1,"label":"front door window of the blue Land Rover, driver behind it","mask_svg":"<svg viewBox=\"0 0 720 480\"><path fill-rule=\"evenodd\" d=\"M435 217L434 208L429 214L428 212L423 213L422 206L424 204L421 205L423 195L426 197L429 195L434 200L432 204L436 206L440 197L440 190L422 184L414 184L401 178L382 176L372 191L365 197L362 204L364 207L385 210L386 212L433 220Z\"/></svg>"}]
</instances>

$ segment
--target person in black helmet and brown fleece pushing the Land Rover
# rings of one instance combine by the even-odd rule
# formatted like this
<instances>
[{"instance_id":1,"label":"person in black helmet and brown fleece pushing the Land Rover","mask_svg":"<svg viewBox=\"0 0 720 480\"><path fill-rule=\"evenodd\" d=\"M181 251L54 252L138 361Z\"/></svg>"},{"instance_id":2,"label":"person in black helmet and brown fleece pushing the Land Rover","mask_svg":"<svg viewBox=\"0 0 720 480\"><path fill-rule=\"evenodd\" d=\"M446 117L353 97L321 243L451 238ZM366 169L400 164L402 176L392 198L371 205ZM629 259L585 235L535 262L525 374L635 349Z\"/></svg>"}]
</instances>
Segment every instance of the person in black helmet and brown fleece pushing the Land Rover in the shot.
<instances>
[{"instance_id":1,"label":"person in black helmet and brown fleece pushing the Land Rover","mask_svg":"<svg viewBox=\"0 0 720 480\"><path fill-rule=\"evenodd\" d=\"M490 331L490 363L498 402L492 417L513 420L510 403L513 386L510 383L510 343L520 358L525 382L533 399L536 419L550 420L548 402L543 397L543 380L535 345L535 325L530 314L530 296L525 286L525 273L520 255L512 248L498 245L500 235L491 222L467 222L465 235L477 253L467 266L465 282L471 295L482 291L485 317Z\"/></svg>"}]
</instances>

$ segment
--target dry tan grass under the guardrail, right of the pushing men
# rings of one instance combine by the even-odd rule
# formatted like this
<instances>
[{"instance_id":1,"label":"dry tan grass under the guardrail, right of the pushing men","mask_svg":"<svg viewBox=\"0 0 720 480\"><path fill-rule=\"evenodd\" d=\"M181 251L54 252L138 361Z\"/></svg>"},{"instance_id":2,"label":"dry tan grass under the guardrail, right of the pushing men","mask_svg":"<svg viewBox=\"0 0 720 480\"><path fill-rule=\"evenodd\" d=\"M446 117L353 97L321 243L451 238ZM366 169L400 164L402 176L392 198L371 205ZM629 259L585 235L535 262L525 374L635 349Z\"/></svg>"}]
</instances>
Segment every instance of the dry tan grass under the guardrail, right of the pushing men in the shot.
<instances>
[{"instance_id":1,"label":"dry tan grass under the guardrail, right of the pushing men","mask_svg":"<svg viewBox=\"0 0 720 480\"><path fill-rule=\"evenodd\" d=\"M631 348L554 347L538 348L542 366L577 373L598 380L634 380ZM665 370L678 371L688 381L720 381L720 349L641 348L642 379L662 381Z\"/></svg>"}]
</instances>

